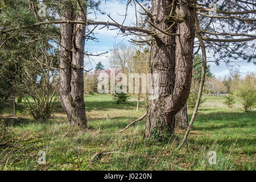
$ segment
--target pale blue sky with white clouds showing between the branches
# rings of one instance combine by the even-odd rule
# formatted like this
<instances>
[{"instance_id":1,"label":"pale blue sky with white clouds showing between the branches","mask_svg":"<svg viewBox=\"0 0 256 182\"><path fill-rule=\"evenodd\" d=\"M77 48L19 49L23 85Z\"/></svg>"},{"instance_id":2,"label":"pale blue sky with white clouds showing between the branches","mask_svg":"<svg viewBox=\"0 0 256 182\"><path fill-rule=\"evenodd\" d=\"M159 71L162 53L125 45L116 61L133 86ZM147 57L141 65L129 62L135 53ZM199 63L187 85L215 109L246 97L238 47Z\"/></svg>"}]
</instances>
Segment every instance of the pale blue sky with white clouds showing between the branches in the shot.
<instances>
[{"instance_id":1,"label":"pale blue sky with white clouds showing between the branches","mask_svg":"<svg viewBox=\"0 0 256 182\"><path fill-rule=\"evenodd\" d=\"M126 10L126 4L125 1L117 1L117 0L111 0L102 2L100 5L100 9L104 11L106 14L110 13L110 16L118 22L123 22L123 14L125 14ZM137 7L138 9L138 7ZM133 22L135 20L135 8L134 6L129 6L128 9L128 15L125 20L125 25L133 25ZM97 14L97 19L95 19L95 15L90 15L90 19L97 20L97 21L108 21L113 22L111 19L108 18L107 15L101 15ZM101 53L110 51L110 49L113 48L114 44L118 44L120 42L129 44L128 40L130 39L127 37L125 40L122 35L118 35L118 30L108 30L107 28L103 28L101 30L98 30L101 27L97 27L96 31L94 31L96 34L95 36L98 38L100 42L93 42L92 40L89 40L85 43L85 51L92 52L92 53ZM93 60L85 60L86 69L94 68L95 65L101 61L102 64L105 65L105 68L109 68L109 61L108 61L108 55L106 54L104 56L100 57L93 57ZM213 57L211 55L207 55L209 57L209 60L213 60ZM210 71L214 73L214 75L218 78L223 78L225 75L229 75L229 69L226 67L225 63L220 63L220 65L216 65L215 63L208 63L210 65ZM239 63L237 65L234 65L234 68L239 68L242 73L247 72L256 72L256 66L253 63Z\"/></svg>"}]
</instances>

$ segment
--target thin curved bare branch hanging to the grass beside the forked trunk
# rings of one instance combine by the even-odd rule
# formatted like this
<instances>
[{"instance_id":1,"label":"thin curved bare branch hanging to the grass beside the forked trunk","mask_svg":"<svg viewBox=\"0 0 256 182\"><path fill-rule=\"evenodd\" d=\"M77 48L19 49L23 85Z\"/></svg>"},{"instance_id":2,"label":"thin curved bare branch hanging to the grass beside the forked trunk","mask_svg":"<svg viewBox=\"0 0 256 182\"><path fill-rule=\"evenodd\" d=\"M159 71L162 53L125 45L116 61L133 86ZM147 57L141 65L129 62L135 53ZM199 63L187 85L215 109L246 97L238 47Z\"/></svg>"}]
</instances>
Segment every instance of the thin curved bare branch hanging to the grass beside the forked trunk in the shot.
<instances>
[{"instance_id":1,"label":"thin curved bare branch hanging to the grass beside the forked trunk","mask_svg":"<svg viewBox=\"0 0 256 182\"><path fill-rule=\"evenodd\" d=\"M197 17L195 17L195 20L196 20L196 34L197 34L197 38L199 40L199 44L200 44L202 54L203 54L203 68L202 68L202 73L201 73L201 82L200 82L199 91L198 91L197 100L196 100L196 106L193 111L193 115L192 115L191 121L189 123L188 129L184 135L184 138L180 144L179 149L184 145L185 142L187 142L187 137L188 137L189 131L192 130L193 122L195 121L197 110L200 105L200 100L201 100L202 91L203 91L203 87L204 87L204 81L205 81L205 71L207 69L207 56L206 56L206 51L205 51L205 45L204 45L203 39L200 34L201 29L200 29L200 25L199 25L199 21L198 21Z\"/></svg>"}]
</instances>

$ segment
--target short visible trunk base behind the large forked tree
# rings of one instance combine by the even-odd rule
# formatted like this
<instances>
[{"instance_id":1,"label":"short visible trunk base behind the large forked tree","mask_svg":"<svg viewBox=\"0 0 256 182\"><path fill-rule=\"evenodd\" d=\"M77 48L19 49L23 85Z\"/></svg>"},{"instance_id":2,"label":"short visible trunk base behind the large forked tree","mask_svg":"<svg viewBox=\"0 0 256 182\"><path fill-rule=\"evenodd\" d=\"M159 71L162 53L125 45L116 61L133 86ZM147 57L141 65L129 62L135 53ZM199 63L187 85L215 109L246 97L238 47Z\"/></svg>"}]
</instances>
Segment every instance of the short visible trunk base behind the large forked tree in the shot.
<instances>
[{"instance_id":1,"label":"short visible trunk base behind the large forked tree","mask_svg":"<svg viewBox=\"0 0 256 182\"><path fill-rule=\"evenodd\" d=\"M175 127L180 129L187 129L188 127L188 113L187 104L185 104L179 112L175 115Z\"/></svg>"}]
</instances>

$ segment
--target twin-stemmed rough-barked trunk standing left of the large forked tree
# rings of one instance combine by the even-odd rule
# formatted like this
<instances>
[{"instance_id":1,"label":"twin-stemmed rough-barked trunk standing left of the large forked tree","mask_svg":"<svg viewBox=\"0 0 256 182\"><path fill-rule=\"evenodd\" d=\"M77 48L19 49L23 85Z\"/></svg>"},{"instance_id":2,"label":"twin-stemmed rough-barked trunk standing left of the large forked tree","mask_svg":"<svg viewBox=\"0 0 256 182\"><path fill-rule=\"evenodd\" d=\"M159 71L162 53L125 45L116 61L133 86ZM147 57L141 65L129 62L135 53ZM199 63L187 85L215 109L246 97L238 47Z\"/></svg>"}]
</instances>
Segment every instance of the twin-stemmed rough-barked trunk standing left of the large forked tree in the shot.
<instances>
[{"instance_id":1,"label":"twin-stemmed rough-barked trunk standing left of the large forked tree","mask_svg":"<svg viewBox=\"0 0 256 182\"><path fill-rule=\"evenodd\" d=\"M79 7L65 1L61 19L85 20ZM84 44L85 26L61 24L60 100L67 113L69 125L87 126L84 104Z\"/></svg>"}]
</instances>

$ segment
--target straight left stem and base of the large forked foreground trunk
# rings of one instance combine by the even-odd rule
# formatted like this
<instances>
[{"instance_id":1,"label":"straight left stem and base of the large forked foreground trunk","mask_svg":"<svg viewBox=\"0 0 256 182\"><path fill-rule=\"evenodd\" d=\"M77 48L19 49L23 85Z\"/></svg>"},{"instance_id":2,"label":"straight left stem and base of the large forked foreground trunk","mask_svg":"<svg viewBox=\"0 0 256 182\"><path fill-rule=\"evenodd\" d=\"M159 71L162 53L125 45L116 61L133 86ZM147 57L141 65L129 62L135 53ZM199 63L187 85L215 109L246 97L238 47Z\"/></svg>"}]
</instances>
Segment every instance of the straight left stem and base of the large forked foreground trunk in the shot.
<instances>
[{"instance_id":1,"label":"straight left stem and base of the large forked foreground trunk","mask_svg":"<svg viewBox=\"0 0 256 182\"><path fill-rule=\"evenodd\" d=\"M154 24L162 30L171 26L172 22L167 22L166 16L170 13L171 1L154 0L152 1L152 15ZM166 8L168 7L168 8ZM164 130L173 133L175 118L166 118L164 114L164 102L174 90L175 81L175 36L167 36L155 29L163 38L163 42L154 41L151 47L150 73L153 73L151 82L154 82L154 73L158 73L159 97L156 100L148 100L146 129L144 137L151 137L153 130ZM168 33L174 34L176 26L170 28Z\"/></svg>"}]
</instances>

